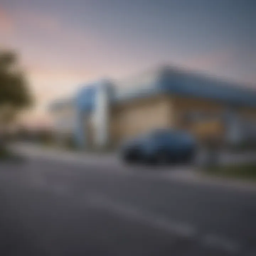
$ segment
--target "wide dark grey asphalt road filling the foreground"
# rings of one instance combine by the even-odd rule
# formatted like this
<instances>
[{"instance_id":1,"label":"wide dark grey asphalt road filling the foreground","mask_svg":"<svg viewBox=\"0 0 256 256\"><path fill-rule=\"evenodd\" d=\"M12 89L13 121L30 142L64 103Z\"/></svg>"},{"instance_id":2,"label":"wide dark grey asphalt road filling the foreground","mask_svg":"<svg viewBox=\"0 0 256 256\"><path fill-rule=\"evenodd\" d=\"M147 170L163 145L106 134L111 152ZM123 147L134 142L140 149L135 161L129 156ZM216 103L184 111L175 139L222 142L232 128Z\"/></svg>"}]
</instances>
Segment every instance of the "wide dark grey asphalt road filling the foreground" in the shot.
<instances>
[{"instance_id":1,"label":"wide dark grey asphalt road filling the foreground","mask_svg":"<svg viewBox=\"0 0 256 256\"><path fill-rule=\"evenodd\" d=\"M255 192L129 168L1 163L0 255L256 255Z\"/></svg>"}]
</instances>

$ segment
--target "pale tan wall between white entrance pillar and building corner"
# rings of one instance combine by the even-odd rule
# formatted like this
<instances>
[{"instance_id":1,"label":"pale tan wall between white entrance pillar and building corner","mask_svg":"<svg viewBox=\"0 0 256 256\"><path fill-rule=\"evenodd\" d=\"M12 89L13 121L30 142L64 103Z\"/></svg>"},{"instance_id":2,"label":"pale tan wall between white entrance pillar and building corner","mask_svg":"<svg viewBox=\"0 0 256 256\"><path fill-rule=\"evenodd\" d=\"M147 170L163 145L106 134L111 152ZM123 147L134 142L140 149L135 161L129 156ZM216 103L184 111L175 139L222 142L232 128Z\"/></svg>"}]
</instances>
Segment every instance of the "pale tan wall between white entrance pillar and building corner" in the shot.
<instances>
[{"instance_id":1,"label":"pale tan wall between white entrance pillar and building corner","mask_svg":"<svg viewBox=\"0 0 256 256\"><path fill-rule=\"evenodd\" d=\"M155 128L171 127L169 97L159 95L119 104L111 112L110 133L114 143Z\"/></svg>"}]
</instances>

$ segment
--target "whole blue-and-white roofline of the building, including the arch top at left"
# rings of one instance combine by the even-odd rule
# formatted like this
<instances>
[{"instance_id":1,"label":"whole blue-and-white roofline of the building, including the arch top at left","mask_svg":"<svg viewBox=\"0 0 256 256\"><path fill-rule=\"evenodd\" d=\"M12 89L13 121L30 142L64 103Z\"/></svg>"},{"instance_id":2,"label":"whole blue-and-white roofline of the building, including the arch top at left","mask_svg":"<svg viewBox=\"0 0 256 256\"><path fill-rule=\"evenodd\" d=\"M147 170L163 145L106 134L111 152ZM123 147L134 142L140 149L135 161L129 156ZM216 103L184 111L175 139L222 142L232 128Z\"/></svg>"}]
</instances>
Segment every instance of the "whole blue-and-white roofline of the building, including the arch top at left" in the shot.
<instances>
[{"instance_id":1,"label":"whole blue-and-white roofline of the building, including the arch top at left","mask_svg":"<svg viewBox=\"0 0 256 256\"><path fill-rule=\"evenodd\" d=\"M75 102L79 109L92 110L95 107L96 90L102 84L102 81L87 84L75 97L53 102L50 109ZM114 87L109 80L105 84ZM113 103L165 93L203 98L232 106L256 107L256 90L249 89L246 85L169 66L115 81L115 84L117 86L111 94Z\"/></svg>"}]
</instances>

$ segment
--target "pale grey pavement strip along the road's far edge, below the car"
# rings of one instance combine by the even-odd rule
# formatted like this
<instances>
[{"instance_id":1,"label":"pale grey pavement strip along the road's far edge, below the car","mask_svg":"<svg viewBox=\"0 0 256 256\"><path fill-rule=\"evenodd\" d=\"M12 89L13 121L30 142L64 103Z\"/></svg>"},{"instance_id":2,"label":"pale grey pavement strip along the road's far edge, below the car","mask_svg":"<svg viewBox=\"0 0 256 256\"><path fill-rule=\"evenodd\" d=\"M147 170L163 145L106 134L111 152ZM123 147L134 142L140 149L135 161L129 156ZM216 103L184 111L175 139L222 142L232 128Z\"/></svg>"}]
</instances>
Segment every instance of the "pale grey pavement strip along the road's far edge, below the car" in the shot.
<instances>
[{"instance_id":1,"label":"pale grey pavement strip along the road's far edge, below the car","mask_svg":"<svg viewBox=\"0 0 256 256\"><path fill-rule=\"evenodd\" d=\"M20 153L28 155L33 158L44 158L54 161L63 161L70 162L79 165L86 165L86 167L98 167L97 171L104 173L114 173L117 175L128 175L128 176L138 176L143 178L153 178L153 179L164 179L165 181L178 181L188 184L203 184L224 187L231 190L239 190L240 192L256 192L256 186L253 182L241 182L233 180L222 180L220 178L206 177L200 174L196 174L194 167L192 166L179 166L179 167L162 167L148 168L146 166L127 166L120 162L114 156L95 156L95 155L85 155L76 154L76 153L67 153L59 152L54 150L42 150L42 149L33 149L33 148L16 148ZM105 168L108 166L106 172ZM101 169L100 169L101 167ZM111 168L110 168L111 167ZM139 169L140 171L137 171ZM146 170L143 172L142 170ZM157 172L156 172L157 171Z\"/></svg>"}]
</instances>

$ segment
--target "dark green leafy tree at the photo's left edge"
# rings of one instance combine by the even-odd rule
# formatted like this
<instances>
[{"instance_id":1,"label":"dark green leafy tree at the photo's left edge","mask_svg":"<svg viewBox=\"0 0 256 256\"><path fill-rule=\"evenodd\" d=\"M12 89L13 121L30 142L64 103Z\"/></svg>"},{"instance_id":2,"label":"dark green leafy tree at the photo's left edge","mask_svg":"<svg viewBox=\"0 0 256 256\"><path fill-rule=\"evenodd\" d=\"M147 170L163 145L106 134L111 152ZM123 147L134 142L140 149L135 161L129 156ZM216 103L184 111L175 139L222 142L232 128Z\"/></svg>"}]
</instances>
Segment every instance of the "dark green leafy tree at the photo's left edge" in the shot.
<instances>
[{"instance_id":1,"label":"dark green leafy tree at the photo's left edge","mask_svg":"<svg viewBox=\"0 0 256 256\"><path fill-rule=\"evenodd\" d=\"M0 135L17 113L32 104L25 74L18 67L17 54L0 50Z\"/></svg>"}]
</instances>

